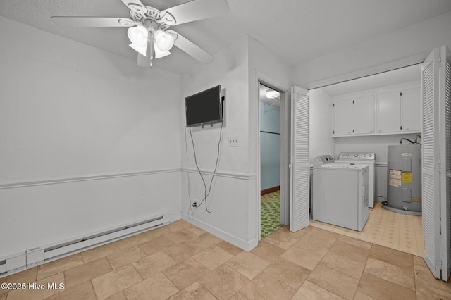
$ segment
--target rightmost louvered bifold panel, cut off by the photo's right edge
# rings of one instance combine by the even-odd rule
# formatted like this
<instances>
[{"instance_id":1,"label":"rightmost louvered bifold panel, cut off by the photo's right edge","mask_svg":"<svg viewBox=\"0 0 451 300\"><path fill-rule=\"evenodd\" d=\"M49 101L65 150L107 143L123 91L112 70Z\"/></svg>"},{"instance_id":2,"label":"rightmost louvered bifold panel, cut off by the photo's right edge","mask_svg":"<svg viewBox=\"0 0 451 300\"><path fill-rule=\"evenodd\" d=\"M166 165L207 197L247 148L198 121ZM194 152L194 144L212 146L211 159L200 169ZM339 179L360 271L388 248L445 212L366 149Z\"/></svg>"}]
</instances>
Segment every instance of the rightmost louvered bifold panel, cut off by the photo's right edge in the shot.
<instances>
[{"instance_id":1,"label":"rightmost louvered bifold panel, cut off by the photo's right edge","mask_svg":"<svg viewBox=\"0 0 451 300\"><path fill-rule=\"evenodd\" d=\"M440 260L442 280L451 271L451 54L440 48ZM442 121L443 120L443 121Z\"/></svg>"}]
</instances>

